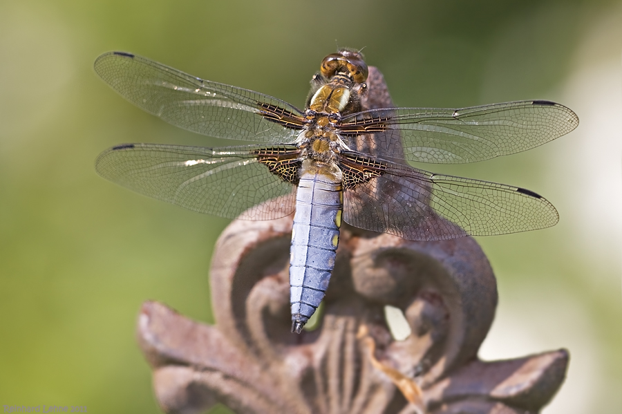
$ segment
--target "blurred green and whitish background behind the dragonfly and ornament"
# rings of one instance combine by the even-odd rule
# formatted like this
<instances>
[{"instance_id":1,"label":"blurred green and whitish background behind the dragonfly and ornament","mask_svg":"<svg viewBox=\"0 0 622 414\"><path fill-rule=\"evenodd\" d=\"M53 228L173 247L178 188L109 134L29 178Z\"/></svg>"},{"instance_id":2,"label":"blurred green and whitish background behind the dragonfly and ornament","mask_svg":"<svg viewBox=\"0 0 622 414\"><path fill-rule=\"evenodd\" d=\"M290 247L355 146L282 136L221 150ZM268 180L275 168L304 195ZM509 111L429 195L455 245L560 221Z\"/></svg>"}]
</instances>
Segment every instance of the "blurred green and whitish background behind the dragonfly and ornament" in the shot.
<instances>
[{"instance_id":1,"label":"blurred green and whitish background behind the dragonfly and ornament","mask_svg":"<svg viewBox=\"0 0 622 414\"><path fill-rule=\"evenodd\" d=\"M365 47L398 106L536 98L578 113L544 147L422 167L556 205L556 227L478 238L500 294L480 355L568 348L544 413L622 412L621 42L619 1L1 1L0 406L159 413L135 342L140 304L214 321L209 261L227 220L133 194L93 163L122 142L227 142L127 103L95 57L130 51L303 106L339 44Z\"/></svg>"}]
</instances>

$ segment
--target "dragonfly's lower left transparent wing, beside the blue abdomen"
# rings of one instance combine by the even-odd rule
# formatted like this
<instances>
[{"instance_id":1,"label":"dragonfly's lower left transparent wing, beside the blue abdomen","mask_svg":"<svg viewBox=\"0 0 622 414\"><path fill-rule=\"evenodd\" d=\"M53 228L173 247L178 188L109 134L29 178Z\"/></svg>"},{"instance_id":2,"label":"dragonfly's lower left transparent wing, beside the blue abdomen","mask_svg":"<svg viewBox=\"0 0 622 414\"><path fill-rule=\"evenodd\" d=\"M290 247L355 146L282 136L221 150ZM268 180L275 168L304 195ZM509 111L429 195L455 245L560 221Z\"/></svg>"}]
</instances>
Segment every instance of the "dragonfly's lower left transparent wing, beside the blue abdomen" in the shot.
<instances>
[{"instance_id":1,"label":"dragonfly's lower left transparent wing, beside the blue abdomen","mask_svg":"<svg viewBox=\"0 0 622 414\"><path fill-rule=\"evenodd\" d=\"M293 147L295 149L295 147ZM271 220L294 211L294 186L257 161L265 147L210 149L158 144L125 144L104 151L97 173L134 191L200 213L236 218L250 207L279 196L241 218ZM279 147L285 149L285 147Z\"/></svg>"}]
</instances>

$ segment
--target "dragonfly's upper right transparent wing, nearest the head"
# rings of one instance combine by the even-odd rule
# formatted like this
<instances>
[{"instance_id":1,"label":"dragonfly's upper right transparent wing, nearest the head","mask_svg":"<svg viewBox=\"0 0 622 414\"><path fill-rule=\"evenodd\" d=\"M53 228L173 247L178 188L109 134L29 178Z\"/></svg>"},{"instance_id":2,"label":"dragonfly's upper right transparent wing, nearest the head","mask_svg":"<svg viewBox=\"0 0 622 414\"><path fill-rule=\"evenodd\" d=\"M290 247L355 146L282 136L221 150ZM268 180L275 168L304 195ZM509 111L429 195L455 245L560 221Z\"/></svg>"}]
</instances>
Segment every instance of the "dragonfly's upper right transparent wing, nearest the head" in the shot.
<instances>
[{"instance_id":1,"label":"dragonfly's upper right transparent wing, nearest the head","mask_svg":"<svg viewBox=\"0 0 622 414\"><path fill-rule=\"evenodd\" d=\"M376 153L392 153L395 142L402 142L406 160L460 163L538 147L577 125L570 109L536 100L464 109L373 109L344 117L340 129L350 140L375 132Z\"/></svg>"}]
</instances>

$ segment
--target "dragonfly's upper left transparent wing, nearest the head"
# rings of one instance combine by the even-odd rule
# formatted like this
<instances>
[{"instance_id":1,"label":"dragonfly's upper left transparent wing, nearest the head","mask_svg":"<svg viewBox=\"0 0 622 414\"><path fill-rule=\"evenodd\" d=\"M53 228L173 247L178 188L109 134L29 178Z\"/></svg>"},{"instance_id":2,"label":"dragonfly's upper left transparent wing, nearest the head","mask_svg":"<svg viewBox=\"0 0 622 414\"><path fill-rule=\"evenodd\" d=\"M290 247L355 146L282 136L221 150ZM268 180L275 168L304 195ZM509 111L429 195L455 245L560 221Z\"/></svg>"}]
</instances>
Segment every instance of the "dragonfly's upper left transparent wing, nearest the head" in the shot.
<instances>
[{"instance_id":1,"label":"dragonfly's upper left transparent wing, nearest the head","mask_svg":"<svg viewBox=\"0 0 622 414\"><path fill-rule=\"evenodd\" d=\"M95 72L144 111L183 129L216 138L292 142L301 111L274 97L199 79L144 57L111 52Z\"/></svg>"}]
</instances>

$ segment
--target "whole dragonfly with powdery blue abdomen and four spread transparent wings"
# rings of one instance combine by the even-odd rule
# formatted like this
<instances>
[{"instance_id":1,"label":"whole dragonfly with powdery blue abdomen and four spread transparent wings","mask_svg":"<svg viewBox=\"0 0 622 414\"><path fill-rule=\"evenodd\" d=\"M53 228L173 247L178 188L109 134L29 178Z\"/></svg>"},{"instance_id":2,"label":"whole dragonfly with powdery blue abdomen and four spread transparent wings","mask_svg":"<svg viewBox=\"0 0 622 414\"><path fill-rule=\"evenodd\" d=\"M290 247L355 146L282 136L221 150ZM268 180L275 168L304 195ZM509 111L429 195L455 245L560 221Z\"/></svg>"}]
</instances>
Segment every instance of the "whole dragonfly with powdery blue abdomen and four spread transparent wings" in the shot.
<instances>
[{"instance_id":1,"label":"whole dragonfly with powdery blue abdomen and four spread transparent wings","mask_svg":"<svg viewBox=\"0 0 622 414\"><path fill-rule=\"evenodd\" d=\"M100 154L96 169L138 193L201 213L247 220L294 213L292 332L302 332L324 297L342 222L413 241L524 232L558 222L555 207L534 191L409 163L475 162L545 144L578 125L576 114L555 102L369 109L369 69L350 49L322 60L304 110L131 53L101 55L95 72L170 124L249 142L223 148L121 144Z\"/></svg>"}]
</instances>

